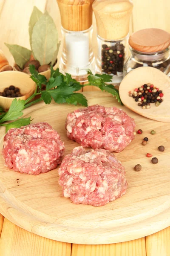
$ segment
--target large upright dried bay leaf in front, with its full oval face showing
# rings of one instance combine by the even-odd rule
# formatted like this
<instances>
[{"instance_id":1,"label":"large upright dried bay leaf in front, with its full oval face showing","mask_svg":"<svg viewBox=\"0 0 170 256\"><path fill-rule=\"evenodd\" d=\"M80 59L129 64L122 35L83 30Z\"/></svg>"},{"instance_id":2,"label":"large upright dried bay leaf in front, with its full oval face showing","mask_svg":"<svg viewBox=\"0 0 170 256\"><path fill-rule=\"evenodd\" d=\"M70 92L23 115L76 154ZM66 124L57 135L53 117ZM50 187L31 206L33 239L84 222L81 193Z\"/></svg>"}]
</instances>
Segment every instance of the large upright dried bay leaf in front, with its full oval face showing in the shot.
<instances>
[{"instance_id":1,"label":"large upright dried bay leaf in front, with its full oval face showing","mask_svg":"<svg viewBox=\"0 0 170 256\"><path fill-rule=\"evenodd\" d=\"M31 49L36 60L41 65L49 64L57 50L58 32L55 23L48 12L45 12L35 23Z\"/></svg>"}]
</instances>

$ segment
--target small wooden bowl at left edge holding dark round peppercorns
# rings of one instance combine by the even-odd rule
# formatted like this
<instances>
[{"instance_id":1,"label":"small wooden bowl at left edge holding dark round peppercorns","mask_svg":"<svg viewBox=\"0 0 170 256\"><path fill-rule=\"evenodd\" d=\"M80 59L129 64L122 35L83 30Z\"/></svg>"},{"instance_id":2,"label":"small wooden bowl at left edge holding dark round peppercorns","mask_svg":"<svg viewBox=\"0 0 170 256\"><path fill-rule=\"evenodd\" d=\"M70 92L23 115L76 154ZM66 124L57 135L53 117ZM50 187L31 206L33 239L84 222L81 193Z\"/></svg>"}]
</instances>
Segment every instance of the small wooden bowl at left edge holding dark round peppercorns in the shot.
<instances>
[{"instance_id":1,"label":"small wooden bowl at left edge holding dark round peppercorns","mask_svg":"<svg viewBox=\"0 0 170 256\"><path fill-rule=\"evenodd\" d=\"M20 88L20 93L23 96L16 99L26 100L35 91L35 82L26 73L19 71L0 72L0 92L3 92L3 90L10 85ZM13 99L14 98L0 96L0 107L4 110L9 109Z\"/></svg>"}]
</instances>

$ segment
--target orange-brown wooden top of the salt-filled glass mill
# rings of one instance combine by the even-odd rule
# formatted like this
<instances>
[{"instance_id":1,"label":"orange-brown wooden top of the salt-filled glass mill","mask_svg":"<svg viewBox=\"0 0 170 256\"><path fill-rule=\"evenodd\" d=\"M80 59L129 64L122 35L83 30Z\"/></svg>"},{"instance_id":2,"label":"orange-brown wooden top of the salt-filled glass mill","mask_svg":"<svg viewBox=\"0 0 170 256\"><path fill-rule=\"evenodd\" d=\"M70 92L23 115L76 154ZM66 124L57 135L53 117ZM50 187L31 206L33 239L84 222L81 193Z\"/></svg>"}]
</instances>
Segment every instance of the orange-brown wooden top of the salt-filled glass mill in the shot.
<instances>
[{"instance_id":1,"label":"orange-brown wooden top of the salt-filled glass mill","mask_svg":"<svg viewBox=\"0 0 170 256\"><path fill-rule=\"evenodd\" d=\"M92 25L94 0L57 0L64 29L83 31Z\"/></svg>"}]
</instances>

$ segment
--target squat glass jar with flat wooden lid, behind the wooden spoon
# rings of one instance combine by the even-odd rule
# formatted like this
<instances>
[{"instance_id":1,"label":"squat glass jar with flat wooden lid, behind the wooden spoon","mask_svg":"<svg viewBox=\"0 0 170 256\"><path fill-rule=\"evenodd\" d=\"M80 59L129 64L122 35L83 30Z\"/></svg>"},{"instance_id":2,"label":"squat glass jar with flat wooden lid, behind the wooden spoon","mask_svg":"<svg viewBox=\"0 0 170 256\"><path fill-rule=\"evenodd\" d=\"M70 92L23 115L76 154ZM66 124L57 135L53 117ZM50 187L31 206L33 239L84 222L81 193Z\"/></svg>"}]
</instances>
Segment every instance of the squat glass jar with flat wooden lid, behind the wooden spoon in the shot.
<instances>
[{"instance_id":1,"label":"squat glass jar with flat wooden lid, behind the wooden spoon","mask_svg":"<svg viewBox=\"0 0 170 256\"><path fill-rule=\"evenodd\" d=\"M137 67L155 67L170 76L170 33L162 29L142 29L129 38L131 56L123 76Z\"/></svg>"}]
</instances>

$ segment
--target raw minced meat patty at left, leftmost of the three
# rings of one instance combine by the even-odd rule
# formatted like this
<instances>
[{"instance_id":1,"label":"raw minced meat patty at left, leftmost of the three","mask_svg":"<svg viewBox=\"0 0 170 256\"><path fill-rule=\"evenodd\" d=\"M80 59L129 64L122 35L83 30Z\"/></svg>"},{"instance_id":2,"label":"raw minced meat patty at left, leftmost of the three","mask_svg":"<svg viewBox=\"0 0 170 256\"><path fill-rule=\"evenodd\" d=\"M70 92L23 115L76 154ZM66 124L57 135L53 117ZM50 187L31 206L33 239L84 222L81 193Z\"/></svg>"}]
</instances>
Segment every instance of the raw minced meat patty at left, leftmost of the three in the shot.
<instances>
[{"instance_id":1,"label":"raw minced meat patty at left, leftmost of the three","mask_svg":"<svg viewBox=\"0 0 170 256\"><path fill-rule=\"evenodd\" d=\"M11 128L3 142L5 164L14 171L37 175L61 163L65 146L46 122Z\"/></svg>"}]
</instances>

